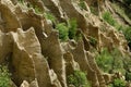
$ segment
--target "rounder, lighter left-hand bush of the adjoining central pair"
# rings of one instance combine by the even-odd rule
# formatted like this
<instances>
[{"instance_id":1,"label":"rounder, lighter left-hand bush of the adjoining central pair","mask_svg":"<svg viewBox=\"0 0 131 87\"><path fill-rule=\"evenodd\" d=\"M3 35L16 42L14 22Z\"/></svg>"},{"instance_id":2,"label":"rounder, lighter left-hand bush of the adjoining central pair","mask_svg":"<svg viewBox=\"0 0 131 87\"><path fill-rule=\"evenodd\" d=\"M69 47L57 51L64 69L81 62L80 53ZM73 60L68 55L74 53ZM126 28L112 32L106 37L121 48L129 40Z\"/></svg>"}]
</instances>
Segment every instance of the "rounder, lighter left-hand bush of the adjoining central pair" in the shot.
<instances>
[{"instance_id":1,"label":"rounder, lighter left-hand bush of the adjoining central pair","mask_svg":"<svg viewBox=\"0 0 131 87\"><path fill-rule=\"evenodd\" d=\"M60 23L57 25L56 29L59 30L59 38L61 40L68 40L68 35L69 35L69 28L66 26L64 23Z\"/></svg>"}]
</instances>

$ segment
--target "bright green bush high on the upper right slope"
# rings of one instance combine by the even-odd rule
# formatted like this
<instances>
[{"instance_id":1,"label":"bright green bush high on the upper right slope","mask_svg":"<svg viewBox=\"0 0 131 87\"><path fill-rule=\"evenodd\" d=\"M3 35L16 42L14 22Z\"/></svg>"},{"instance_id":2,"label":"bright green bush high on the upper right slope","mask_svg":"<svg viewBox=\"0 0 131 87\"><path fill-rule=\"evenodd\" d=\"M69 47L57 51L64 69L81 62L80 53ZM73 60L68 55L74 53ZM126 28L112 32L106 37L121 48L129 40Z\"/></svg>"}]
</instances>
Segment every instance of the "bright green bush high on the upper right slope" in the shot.
<instances>
[{"instance_id":1,"label":"bright green bush high on the upper right slope","mask_svg":"<svg viewBox=\"0 0 131 87\"><path fill-rule=\"evenodd\" d=\"M116 25L116 21L114 20L114 17L111 16L111 14L109 12L105 12L102 16L111 26Z\"/></svg>"}]
</instances>

